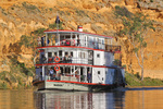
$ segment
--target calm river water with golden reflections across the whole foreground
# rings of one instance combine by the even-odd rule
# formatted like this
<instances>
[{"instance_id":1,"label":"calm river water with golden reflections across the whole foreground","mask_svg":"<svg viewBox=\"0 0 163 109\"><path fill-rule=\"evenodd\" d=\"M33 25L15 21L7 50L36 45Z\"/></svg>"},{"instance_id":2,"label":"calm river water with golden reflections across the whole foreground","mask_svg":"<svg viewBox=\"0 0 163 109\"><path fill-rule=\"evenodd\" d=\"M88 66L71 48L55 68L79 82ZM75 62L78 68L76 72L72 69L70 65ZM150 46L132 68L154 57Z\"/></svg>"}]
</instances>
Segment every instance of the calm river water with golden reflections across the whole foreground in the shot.
<instances>
[{"instance_id":1,"label":"calm river water with golden reflections across the whole foreground","mask_svg":"<svg viewBox=\"0 0 163 109\"><path fill-rule=\"evenodd\" d=\"M105 93L0 90L0 109L163 109L163 87Z\"/></svg>"}]
</instances>

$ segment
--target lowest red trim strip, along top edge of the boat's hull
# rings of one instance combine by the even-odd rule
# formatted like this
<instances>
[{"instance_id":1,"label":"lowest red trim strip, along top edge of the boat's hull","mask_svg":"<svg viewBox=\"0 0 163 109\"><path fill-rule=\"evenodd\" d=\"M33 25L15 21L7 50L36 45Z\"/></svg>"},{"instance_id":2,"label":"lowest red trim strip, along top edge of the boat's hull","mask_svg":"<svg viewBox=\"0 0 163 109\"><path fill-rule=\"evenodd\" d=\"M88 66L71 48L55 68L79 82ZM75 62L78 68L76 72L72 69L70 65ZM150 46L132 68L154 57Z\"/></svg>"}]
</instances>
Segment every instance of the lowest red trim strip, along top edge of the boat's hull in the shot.
<instances>
[{"instance_id":1,"label":"lowest red trim strip, along top edge of the boat's hull","mask_svg":"<svg viewBox=\"0 0 163 109\"><path fill-rule=\"evenodd\" d=\"M83 83L83 82L72 82L72 81L51 81L51 80L48 80L47 82L74 83L74 84L85 84L85 85L110 85L110 84Z\"/></svg>"}]
</instances>

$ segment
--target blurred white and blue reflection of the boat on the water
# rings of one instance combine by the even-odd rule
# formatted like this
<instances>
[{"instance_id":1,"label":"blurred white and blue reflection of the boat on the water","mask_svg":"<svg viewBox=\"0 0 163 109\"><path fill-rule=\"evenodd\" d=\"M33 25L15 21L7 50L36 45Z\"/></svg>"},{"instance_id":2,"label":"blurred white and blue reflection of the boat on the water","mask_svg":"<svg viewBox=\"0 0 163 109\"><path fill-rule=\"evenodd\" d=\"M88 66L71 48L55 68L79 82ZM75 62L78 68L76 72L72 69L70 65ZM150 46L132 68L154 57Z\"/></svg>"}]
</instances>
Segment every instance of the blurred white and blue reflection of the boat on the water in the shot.
<instances>
[{"instance_id":1,"label":"blurred white and blue reflection of the boat on the water","mask_svg":"<svg viewBox=\"0 0 163 109\"><path fill-rule=\"evenodd\" d=\"M38 109L109 109L124 107L123 92L86 93L86 92L37 92L35 93Z\"/></svg>"}]
</instances>

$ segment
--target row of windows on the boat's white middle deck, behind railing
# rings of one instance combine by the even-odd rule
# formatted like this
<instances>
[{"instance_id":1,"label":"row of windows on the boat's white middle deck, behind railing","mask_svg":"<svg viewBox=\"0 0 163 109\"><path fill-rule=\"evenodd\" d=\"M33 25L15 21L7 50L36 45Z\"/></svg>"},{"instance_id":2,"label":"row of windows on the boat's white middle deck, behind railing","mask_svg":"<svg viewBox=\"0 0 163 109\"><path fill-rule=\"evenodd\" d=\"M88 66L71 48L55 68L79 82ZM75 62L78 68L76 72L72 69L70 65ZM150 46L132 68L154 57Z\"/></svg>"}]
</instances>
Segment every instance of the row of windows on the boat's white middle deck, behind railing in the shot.
<instances>
[{"instance_id":1,"label":"row of windows on the boat's white middle deck, behind railing","mask_svg":"<svg viewBox=\"0 0 163 109\"><path fill-rule=\"evenodd\" d=\"M55 58L60 60L59 63L85 63L92 64L92 51L55 51L48 52L48 57L40 56L40 63L53 63ZM60 59L59 59L60 58Z\"/></svg>"}]
</instances>

